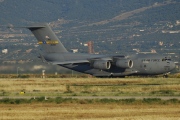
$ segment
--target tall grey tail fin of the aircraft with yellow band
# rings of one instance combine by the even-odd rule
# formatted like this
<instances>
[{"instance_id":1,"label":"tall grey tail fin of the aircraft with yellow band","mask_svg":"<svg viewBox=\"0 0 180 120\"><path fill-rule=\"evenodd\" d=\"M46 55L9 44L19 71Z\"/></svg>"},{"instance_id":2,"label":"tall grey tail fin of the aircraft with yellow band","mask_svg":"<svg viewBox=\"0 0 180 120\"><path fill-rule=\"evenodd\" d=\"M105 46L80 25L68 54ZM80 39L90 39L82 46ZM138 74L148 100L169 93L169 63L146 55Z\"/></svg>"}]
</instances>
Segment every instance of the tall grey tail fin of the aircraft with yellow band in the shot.
<instances>
[{"instance_id":1,"label":"tall grey tail fin of the aircraft with yellow band","mask_svg":"<svg viewBox=\"0 0 180 120\"><path fill-rule=\"evenodd\" d=\"M28 28L46 53L68 52L47 23L33 24Z\"/></svg>"}]
</instances>

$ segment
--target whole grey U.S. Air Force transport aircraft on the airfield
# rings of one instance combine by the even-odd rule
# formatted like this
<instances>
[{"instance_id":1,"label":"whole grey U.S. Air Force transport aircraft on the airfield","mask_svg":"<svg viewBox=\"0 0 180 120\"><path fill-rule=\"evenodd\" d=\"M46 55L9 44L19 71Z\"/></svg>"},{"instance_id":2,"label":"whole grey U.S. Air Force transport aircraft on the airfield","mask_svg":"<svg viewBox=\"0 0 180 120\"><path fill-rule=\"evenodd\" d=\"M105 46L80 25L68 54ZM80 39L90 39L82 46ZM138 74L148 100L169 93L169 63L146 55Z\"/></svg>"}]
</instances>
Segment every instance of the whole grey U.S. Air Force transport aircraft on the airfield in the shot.
<instances>
[{"instance_id":1,"label":"whole grey U.S. Air Force transport aircraft on the airfield","mask_svg":"<svg viewBox=\"0 0 180 120\"><path fill-rule=\"evenodd\" d=\"M40 58L43 61L96 77L167 74L175 68L170 58L159 54L125 56L71 53L47 23L32 24L25 28L42 45L44 53L40 54Z\"/></svg>"}]
</instances>

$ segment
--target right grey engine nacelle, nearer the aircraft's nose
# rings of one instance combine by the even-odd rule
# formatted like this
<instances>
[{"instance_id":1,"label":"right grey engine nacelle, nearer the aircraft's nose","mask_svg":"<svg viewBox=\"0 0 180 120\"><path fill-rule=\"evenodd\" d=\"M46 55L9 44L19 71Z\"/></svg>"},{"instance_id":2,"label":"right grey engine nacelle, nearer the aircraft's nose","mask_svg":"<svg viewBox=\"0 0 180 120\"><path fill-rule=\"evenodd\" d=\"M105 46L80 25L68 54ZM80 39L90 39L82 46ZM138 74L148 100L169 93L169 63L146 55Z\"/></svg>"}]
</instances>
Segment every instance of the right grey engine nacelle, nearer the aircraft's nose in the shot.
<instances>
[{"instance_id":1,"label":"right grey engine nacelle, nearer the aircraft's nose","mask_svg":"<svg viewBox=\"0 0 180 120\"><path fill-rule=\"evenodd\" d=\"M133 61L130 59L118 59L116 61L116 66L120 68L132 68Z\"/></svg>"}]
</instances>

